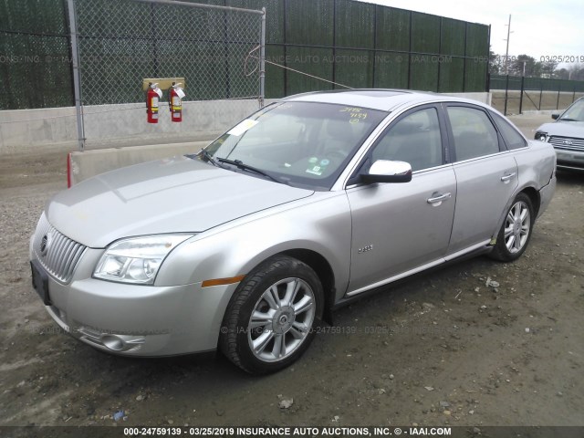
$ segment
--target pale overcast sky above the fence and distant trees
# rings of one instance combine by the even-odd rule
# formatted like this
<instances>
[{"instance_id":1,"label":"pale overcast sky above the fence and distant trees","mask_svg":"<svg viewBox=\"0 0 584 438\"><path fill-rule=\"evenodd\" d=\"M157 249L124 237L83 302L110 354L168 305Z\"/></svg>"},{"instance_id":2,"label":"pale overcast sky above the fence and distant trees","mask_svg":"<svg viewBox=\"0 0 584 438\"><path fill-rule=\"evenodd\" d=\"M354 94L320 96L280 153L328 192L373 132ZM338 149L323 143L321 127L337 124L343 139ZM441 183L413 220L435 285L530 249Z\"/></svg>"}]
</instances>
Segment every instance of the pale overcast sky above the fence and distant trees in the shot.
<instances>
[{"instance_id":1,"label":"pale overcast sky above the fence and distant trees","mask_svg":"<svg viewBox=\"0 0 584 438\"><path fill-rule=\"evenodd\" d=\"M364 0L361 0L364 1ZM527 54L536 60L568 57L584 65L584 1L582 0L366 0L435 16L491 25L491 50L506 53L507 24L511 15L509 56Z\"/></svg>"}]
</instances>

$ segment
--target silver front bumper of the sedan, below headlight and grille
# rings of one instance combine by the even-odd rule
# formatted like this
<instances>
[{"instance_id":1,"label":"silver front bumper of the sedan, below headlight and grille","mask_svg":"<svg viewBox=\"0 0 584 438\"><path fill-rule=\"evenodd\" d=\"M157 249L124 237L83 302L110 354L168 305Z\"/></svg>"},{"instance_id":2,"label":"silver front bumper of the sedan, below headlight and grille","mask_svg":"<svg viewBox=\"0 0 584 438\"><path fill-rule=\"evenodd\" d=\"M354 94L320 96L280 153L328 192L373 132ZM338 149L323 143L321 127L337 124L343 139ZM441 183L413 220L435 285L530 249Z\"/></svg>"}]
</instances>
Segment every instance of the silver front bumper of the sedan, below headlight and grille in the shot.
<instances>
[{"instance_id":1,"label":"silver front bumper of the sedan, below headlight and grille","mask_svg":"<svg viewBox=\"0 0 584 438\"><path fill-rule=\"evenodd\" d=\"M92 347L126 356L217 348L224 310L237 284L151 287L103 281L91 277L101 253L88 248L68 284L48 275L46 308L61 328Z\"/></svg>"}]
</instances>

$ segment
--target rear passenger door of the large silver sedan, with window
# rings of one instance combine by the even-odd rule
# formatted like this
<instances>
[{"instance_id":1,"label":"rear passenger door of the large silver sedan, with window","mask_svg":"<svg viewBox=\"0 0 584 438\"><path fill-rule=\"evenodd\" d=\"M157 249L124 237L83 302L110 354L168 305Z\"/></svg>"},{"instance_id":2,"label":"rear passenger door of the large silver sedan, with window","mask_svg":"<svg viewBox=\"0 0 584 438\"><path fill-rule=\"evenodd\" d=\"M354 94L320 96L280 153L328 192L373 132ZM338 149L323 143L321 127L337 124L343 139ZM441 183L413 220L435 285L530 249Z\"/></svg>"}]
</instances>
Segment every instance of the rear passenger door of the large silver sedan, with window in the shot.
<instances>
[{"instance_id":1,"label":"rear passenger door of the large silver sedan, with window","mask_svg":"<svg viewBox=\"0 0 584 438\"><path fill-rule=\"evenodd\" d=\"M473 105L448 104L450 150L456 175L456 208L448 255L488 243L518 178L487 112Z\"/></svg>"}]
</instances>

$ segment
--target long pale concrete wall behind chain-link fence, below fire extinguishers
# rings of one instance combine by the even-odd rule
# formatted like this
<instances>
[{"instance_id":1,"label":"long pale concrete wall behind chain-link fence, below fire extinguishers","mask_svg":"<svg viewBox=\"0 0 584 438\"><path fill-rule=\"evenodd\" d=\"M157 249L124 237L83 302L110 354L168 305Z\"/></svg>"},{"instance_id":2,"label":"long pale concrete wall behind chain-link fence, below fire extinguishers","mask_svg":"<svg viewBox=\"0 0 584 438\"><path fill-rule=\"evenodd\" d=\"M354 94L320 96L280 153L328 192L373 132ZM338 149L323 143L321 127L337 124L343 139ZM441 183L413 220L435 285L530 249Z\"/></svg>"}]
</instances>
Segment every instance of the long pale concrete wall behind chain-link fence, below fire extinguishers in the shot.
<instances>
[{"instance_id":1,"label":"long pale concrete wall behind chain-link fence, below fire extinguishers","mask_svg":"<svg viewBox=\"0 0 584 438\"><path fill-rule=\"evenodd\" d=\"M201 140L228 130L257 110L257 100L183 102L183 122L172 123L168 104L160 108L157 124L146 122L143 103L83 108L87 149ZM48 144L65 143L78 149L75 108L0 111L0 154Z\"/></svg>"}]
</instances>

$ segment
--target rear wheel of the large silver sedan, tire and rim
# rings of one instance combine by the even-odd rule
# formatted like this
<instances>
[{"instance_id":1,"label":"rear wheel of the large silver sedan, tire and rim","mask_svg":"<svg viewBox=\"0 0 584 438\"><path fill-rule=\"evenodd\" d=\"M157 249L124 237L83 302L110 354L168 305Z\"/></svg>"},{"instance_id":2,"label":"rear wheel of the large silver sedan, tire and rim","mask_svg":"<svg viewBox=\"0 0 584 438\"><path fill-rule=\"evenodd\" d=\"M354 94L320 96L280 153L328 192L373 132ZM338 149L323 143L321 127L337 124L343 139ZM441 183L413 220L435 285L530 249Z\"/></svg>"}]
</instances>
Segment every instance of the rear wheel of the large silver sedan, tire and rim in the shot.
<instances>
[{"instance_id":1,"label":"rear wheel of the large silver sedan, tire and rim","mask_svg":"<svg viewBox=\"0 0 584 438\"><path fill-rule=\"evenodd\" d=\"M491 257L502 262L512 262L523 255L531 240L534 221L531 199L526 193L517 194L496 236Z\"/></svg>"}]
</instances>

